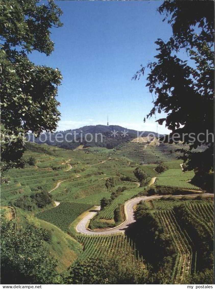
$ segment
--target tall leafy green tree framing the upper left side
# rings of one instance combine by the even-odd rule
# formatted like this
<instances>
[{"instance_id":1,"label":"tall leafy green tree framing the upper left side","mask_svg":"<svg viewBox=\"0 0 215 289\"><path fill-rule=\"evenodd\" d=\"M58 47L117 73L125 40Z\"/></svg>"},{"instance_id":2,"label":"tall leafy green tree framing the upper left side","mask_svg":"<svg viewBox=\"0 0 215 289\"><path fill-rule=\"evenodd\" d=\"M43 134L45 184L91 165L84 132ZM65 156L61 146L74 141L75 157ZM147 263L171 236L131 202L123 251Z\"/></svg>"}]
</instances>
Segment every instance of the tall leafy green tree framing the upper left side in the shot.
<instances>
[{"instance_id":1,"label":"tall leafy green tree framing the upper left side","mask_svg":"<svg viewBox=\"0 0 215 289\"><path fill-rule=\"evenodd\" d=\"M1 157L14 166L20 165L25 134L55 130L60 116L60 71L35 65L28 54L51 54L50 28L62 26L62 11L53 0L39 2L1 0L0 5Z\"/></svg>"}]
</instances>

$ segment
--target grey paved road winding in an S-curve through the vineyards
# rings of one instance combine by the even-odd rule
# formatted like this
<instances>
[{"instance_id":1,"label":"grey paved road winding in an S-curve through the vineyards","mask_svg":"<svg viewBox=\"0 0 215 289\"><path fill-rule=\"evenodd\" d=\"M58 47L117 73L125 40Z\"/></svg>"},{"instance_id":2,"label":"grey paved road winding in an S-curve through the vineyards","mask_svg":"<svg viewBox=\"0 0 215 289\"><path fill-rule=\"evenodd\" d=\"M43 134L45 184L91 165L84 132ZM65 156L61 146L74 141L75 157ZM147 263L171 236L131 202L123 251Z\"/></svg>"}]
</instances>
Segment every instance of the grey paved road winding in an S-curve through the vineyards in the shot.
<instances>
[{"instance_id":1,"label":"grey paved road winding in an S-curve through the vineyards","mask_svg":"<svg viewBox=\"0 0 215 289\"><path fill-rule=\"evenodd\" d=\"M177 195L173 197L196 197L199 194L190 194L190 195ZM211 196L213 194L205 193L202 194L204 196ZM96 210L91 210L76 226L76 231L78 233L82 234L88 234L88 235L109 235L109 234L115 234L115 233L124 233L125 230L128 228L128 226L132 223L135 222L134 220L134 205L138 204L140 201L148 201L152 199L160 199L163 197L162 195L154 195L154 196L149 196L149 197L138 197L135 199L131 199L127 201L124 205L124 212L126 215L126 221L122 223L121 225L111 228L111 229L106 229L106 230L99 230L99 231L91 231L87 229L87 226L89 224L89 221L97 214L97 212L100 210L100 207L96 207ZM168 197L168 196L165 196Z\"/></svg>"}]
</instances>

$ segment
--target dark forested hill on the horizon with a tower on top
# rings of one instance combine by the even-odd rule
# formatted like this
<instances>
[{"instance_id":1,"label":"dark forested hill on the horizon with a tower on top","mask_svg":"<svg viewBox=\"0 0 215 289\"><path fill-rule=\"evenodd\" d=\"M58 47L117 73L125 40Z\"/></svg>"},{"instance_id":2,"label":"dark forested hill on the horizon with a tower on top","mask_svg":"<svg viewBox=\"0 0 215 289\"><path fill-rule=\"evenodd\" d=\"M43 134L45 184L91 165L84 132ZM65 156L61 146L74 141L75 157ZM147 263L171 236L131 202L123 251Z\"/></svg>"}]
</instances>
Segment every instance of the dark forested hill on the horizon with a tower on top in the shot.
<instances>
[{"instance_id":1,"label":"dark forested hill on the horizon with a tower on top","mask_svg":"<svg viewBox=\"0 0 215 289\"><path fill-rule=\"evenodd\" d=\"M113 133L116 133L115 135ZM59 137L59 133L63 135L63 137ZM74 141L74 133L76 134L76 142ZM58 134L57 139L60 140L56 141L56 136ZM92 141L89 142L91 139L90 135L92 134ZM97 141L96 141L96 134L97 134ZM101 136L98 134L102 134ZM149 134L153 134L154 136L158 136L155 132L152 131L140 131L139 136L148 136ZM66 136L66 138L65 138ZM84 145L88 147L107 147L112 149L116 147L118 144L126 142L128 140L132 140L138 137L138 131L134 129L127 129L125 127L121 127L119 125L89 125L80 127L78 129L69 129L66 131L57 131L51 135L43 134L40 138L36 138L36 143L47 143L49 145L61 147L64 149L75 149L79 145ZM88 141L87 141L87 140ZM33 138L31 138L33 140Z\"/></svg>"}]
</instances>

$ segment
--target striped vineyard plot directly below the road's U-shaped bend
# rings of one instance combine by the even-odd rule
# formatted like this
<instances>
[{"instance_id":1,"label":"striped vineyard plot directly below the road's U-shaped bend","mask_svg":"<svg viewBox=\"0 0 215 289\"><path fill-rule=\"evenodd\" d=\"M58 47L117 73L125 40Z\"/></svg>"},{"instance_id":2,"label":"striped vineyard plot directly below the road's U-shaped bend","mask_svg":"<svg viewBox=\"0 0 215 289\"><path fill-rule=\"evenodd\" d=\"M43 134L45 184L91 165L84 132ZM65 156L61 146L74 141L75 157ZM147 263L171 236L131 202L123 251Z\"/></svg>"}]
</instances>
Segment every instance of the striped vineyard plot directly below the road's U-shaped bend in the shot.
<instances>
[{"instance_id":1,"label":"striped vineyard plot directly below the road's U-shaped bend","mask_svg":"<svg viewBox=\"0 0 215 289\"><path fill-rule=\"evenodd\" d=\"M126 255L130 259L130 264L135 262L142 263L143 259L139 257L138 252L135 250L134 244L123 234L114 234L106 236L85 236L79 235L78 240L83 244L84 251L79 257L81 260L87 258L98 258L104 255Z\"/></svg>"}]
</instances>

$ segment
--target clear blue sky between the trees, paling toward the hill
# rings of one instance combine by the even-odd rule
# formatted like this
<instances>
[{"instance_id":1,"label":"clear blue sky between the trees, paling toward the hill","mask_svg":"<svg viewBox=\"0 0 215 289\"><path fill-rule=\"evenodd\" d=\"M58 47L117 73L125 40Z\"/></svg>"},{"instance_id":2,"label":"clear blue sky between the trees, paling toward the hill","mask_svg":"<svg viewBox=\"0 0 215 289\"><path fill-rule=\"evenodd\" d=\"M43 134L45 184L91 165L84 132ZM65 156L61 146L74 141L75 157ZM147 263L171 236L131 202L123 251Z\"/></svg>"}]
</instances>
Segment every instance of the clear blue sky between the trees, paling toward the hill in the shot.
<instances>
[{"instance_id":1,"label":"clear blue sky between the trees, paling toward the hill","mask_svg":"<svg viewBox=\"0 0 215 289\"><path fill-rule=\"evenodd\" d=\"M63 75L57 130L83 125L121 125L156 131L146 81L132 81L140 64L156 55L157 38L168 40L171 27L156 9L162 1L55 1L63 27L53 28L55 51L30 55L35 64L59 68ZM160 115L159 115L160 116ZM158 125L158 133L167 133Z\"/></svg>"}]
</instances>

